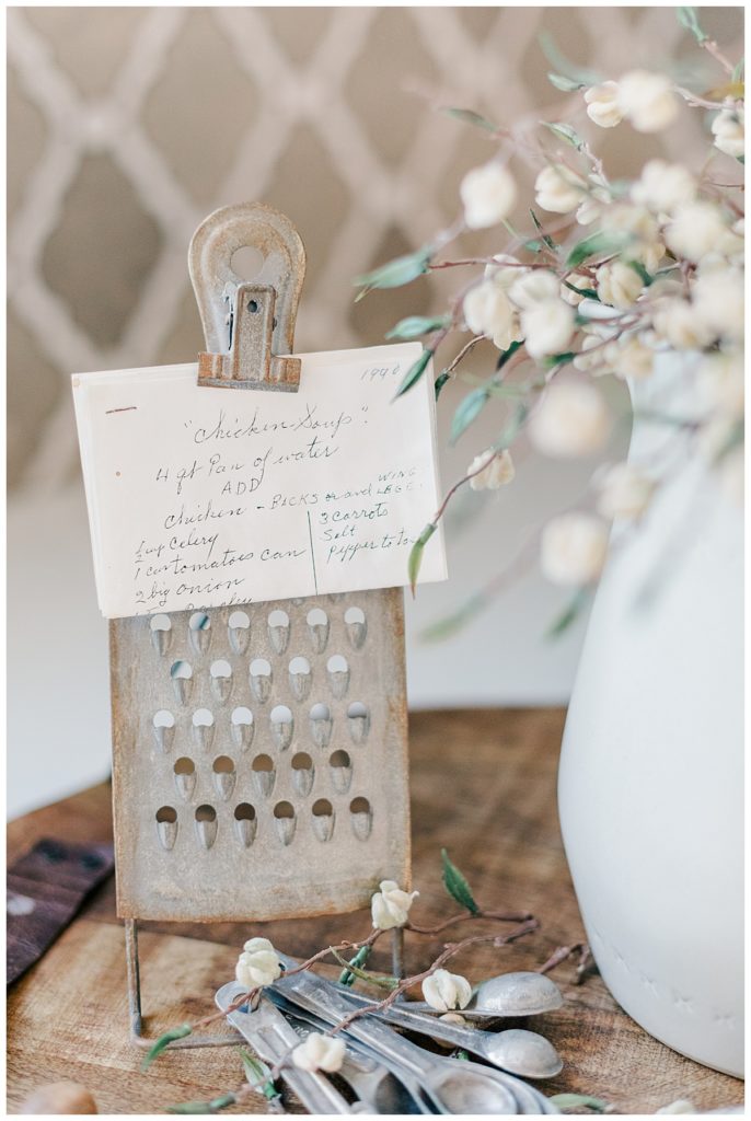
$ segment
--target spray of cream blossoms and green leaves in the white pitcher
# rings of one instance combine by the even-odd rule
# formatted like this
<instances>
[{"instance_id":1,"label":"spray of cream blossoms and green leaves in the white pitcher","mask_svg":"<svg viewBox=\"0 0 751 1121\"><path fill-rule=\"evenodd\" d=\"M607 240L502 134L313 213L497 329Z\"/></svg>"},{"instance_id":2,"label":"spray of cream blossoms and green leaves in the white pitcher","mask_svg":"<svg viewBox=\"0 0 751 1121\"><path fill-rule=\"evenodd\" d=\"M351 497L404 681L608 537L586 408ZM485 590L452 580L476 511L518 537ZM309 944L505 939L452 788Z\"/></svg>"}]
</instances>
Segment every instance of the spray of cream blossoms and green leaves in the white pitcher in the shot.
<instances>
[{"instance_id":1,"label":"spray of cream blossoms and green leaves in the white pitcher","mask_svg":"<svg viewBox=\"0 0 751 1121\"><path fill-rule=\"evenodd\" d=\"M390 332L406 339L421 331L426 339L400 392L417 385L429 359L457 333L471 337L438 373L436 396L462 376L480 341L498 350L495 370L456 408L451 439L456 442L490 406L501 414L498 437L474 456L415 541L408 564L412 591L424 550L456 493L467 483L472 490L513 483L513 450L522 434L536 452L555 460L603 451L618 419L597 386L603 374L639 382L651 378L666 356L689 359L702 398L697 415L646 419L669 425L675 439L685 442L687 457L716 469L725 493L740 495L744 226L743 183L732 168L744 158L743 67L703 31L694 8L678 9L678 19L723 72L708 92L643 70L595 83L562 74L549 78L568 95L567 106L577 103L576 115L599 129L628 122L638 132L661 133L678 121L682 106L699 111L708 118L703 166L693 170L650 159L633 182L615 180L580 135L576 115L574 123L543 122L544 133L536 139L523 124L503 128L452 109L452 115L502 141L501 152L465 175L462 214L448 230L417 253L360 278L364 291L438 269L474 270L445 313L421 323L408 317ZM538 168L528 232L510 223L519 188L509 152ZM718 161L726 169L720 170ZM462 231L497 225L509 235L506 244L499 239L482 257L445 258L446 245ZM655 464L610 464L593 476L584 503L538 528L525 563L534 549L547 578L573 592L572 606L581 605L603 571L610 521L638 528L667 479ZM495 576L432 637L471 618L507 585L512 569ZM575 615L567 610L564 619Z\"/></svg>"}]
</instances>

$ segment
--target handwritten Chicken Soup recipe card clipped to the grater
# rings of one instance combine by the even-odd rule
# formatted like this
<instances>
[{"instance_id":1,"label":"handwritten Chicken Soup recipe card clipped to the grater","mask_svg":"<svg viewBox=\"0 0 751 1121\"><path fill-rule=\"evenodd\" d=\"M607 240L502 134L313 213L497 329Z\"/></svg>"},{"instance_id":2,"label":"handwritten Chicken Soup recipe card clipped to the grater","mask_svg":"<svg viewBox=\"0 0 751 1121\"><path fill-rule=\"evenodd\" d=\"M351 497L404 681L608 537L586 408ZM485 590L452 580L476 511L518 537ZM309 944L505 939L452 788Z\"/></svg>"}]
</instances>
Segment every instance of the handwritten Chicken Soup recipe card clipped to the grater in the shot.
<instances>
[{"instance_id":1,"label":"handwritten Chicken Soup recipe card clipped to the grater","mask_svg":"<svg viewBox=\"0 0 751 1121\"><path fill-rule=\"evenodd\" d=\"M196 365L73 378L108 619L407 583L439 504L419 343L303 354L297 392L198 387ZM441 526L420 582L446 578Z\"/></svg>"}]
</instances>

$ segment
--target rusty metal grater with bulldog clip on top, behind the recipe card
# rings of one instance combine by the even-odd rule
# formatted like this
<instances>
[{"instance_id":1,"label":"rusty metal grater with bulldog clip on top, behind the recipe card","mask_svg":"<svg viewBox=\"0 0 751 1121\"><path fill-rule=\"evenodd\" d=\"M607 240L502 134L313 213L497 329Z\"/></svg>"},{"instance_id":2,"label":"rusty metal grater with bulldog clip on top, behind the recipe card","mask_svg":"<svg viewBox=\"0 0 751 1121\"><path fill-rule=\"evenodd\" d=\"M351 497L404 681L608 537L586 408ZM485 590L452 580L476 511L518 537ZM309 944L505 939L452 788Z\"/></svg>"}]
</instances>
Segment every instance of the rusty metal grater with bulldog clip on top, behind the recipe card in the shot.
<instances>
[{"instance_id":1,"label":"rusty metal grater with bulldog clip on top, behind the recipe card","mask_svg":"<svg viewBox=\"0 0 751 1121\"><path fill-rule=\"evenodd\" d=\"M232 268L251 245L257 281ZM196 231L207 351L198 385L294 392L305 270L297 231L260 204ZM409 880L401 589L110 622L118 915L131 1030L137 921L335 914ZM186 1043L188 1043L186 1040Z\"/></svg>"}]
</instances>

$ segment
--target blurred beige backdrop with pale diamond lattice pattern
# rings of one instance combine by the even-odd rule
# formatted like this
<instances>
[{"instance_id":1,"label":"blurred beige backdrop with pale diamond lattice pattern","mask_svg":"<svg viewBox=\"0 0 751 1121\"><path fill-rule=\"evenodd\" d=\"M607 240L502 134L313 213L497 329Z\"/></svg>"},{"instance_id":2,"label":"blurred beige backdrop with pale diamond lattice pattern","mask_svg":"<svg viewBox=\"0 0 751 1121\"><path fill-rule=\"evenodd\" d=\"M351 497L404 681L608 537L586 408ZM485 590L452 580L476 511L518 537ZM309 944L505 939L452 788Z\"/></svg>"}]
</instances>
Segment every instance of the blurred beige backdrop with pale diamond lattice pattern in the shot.
<instances>
[{"instance_id":1,"label":"blurred beige backdrop with pale diamond lattice pattern","mask_svg":"<svg viewBox=\"0 0 751 1121\"><path fill-rule=\"evenodd\" d=\"M727 38L740 11L706 21ZM686 45L664 8L10 10L11 485L76 472L72 371L193 358L186 247L215 206L260 198L299 226L299 349L379 342L435 303L430 281L352 305L352 277L451 219L488 155L414 91L540 113L543 28L610 74ZM693 138L686 118L675 154Z\"/></svg>"}]
</instances>

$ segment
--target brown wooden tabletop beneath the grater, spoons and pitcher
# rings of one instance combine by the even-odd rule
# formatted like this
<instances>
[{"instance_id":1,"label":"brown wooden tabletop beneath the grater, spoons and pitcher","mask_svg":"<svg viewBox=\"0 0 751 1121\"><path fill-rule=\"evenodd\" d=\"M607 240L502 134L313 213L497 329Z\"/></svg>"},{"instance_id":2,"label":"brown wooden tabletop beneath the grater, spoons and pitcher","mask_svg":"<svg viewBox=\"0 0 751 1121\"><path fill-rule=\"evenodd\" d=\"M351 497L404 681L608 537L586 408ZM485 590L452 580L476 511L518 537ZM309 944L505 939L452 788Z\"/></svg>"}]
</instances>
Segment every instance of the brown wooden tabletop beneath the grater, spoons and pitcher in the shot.
<instances>
[{"instance_id":1,"label":"brown wooden tabletop beneath the grater, spoons and pitcher","mask_svg":"<svg viewBox=\"0 0 751 1121\"><path fill-rule=\"evenodd\" d=\"M513 946L482 947L456 958L452 969L471 979L535 969L557 946L584 937L556 814L563 720L557 708L434 712L410 719L414 886L420 891L415 920L428 925L455 909L441 884L439 851L445 846L484 907L529 909L541 923L539 933ZM12 822L9 860L41 836L106 841L109 787L93 787ZM149 924L140 938L147 1030L159 1034L212 1011L214 991L232 976L241 943L253 935L303 956L331 941L362 937L369 925L367 912L248 926ZM472 924L472 933L490 928ZM438 942L408 936L409 971L427 965L438 949ZM384 953L371 962L376 969L388 967ZM619 1009L596 974L577 986L574 973L573 962L554 971L564 1007L536 1023L565 1063L545 1092L592 1094L620 1113L653 1113L679 1097L699 1110L742 1102L741 1082L651 1039ZM166 1053L148 1073L139 1072L142 1053L128 1038L123 935L114 914L113 880L11 989L8 1031L10 1112L36 1086L61 1078L86 1085L102 1113L159 1113L242 1083L234 1047ZM295 1102L289 1108L300 1112ZM263 1112L260 1100L252 1109Z\"/></svg>"}]
</instances>

